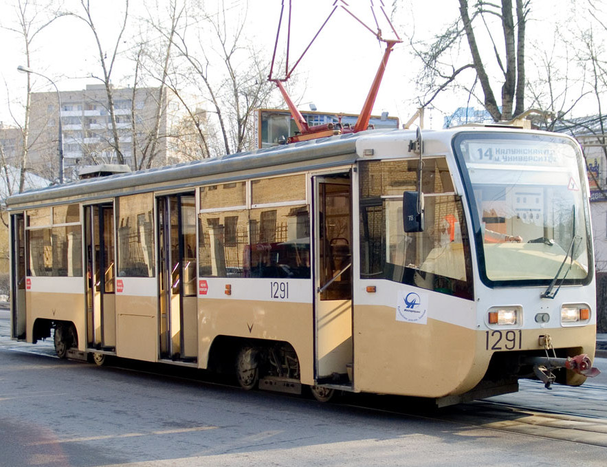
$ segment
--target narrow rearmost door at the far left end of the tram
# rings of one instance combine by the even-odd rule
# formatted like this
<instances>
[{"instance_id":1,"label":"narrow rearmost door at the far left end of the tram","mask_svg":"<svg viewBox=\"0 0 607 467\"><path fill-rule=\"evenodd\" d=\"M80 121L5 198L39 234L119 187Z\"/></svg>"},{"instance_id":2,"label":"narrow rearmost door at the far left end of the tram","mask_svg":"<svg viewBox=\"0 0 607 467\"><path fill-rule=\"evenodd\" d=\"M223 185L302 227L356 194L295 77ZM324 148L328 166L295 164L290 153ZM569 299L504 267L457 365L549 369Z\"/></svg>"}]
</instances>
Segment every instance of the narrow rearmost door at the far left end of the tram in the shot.
<instances>
[{"instance_id":1,"label":"narrow rearmost door at the far left end of the tram","mask_svg":"<svg viewBox=\"0 0 607 467\"><path fill-rule=\"evenodd\" d=\"M23 214L10 217L12 224L12 329L11 337L25 339L25 221Z\"/></svg>"}]
</instances>

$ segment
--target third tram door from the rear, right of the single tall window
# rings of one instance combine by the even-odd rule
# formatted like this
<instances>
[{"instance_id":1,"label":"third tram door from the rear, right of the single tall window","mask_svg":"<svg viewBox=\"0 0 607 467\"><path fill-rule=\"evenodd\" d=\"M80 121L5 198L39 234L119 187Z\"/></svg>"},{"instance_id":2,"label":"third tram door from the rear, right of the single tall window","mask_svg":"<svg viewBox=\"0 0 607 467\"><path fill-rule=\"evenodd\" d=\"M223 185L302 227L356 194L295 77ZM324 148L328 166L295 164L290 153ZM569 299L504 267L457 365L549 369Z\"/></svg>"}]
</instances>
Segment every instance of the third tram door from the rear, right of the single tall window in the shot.
<instances>
[{"instance_id":1,"label":"third tram door from the rear, right of the single tall window","mask_svg":"<svg viewBox=\"0 0 607 467\"><path fill-rule=\"evenodd\" d=\"M157 198L160 358L195 362L196 202L194 193Z\"/></svg>"}]
</instances>

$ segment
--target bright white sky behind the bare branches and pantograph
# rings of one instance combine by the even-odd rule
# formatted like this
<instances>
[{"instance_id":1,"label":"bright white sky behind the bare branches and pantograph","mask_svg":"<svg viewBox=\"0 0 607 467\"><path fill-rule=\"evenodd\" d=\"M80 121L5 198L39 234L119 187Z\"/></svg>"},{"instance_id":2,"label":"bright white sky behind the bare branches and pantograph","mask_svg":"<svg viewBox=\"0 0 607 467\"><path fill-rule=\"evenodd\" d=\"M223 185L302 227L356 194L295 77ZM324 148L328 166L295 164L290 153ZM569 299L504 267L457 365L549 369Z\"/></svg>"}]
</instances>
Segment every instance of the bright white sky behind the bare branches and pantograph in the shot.
<instances>
[{"instance_id":1,"label":"bright white sky behind the bare branches and pantograph","mask_svg":"<svg viewBox=\"0 0 607 467\"><path fill-rule=\"evenodd\" d=\"M16 1L0 2L0 43L10 44L2 47L0 60L0 121L12 124L11 112L20 118L22 106L20 100L25 95L25 75L16 71L18 65L25 65L23 47L19 36L6 28L15 28L12 4ZM44 1L44 0L29 0ZM151 0L153 1L153 0ZM160 6L166 1L156 0ZM207 0L212 6L218 0ZM54 4L64 3L66 7L78 9L78 0L56 0ZM98 31L102 32L102 43L110 49L118 31L118 19L124 0L91 0L94 19ZM233 14L243 10L245 0L225 0L225 6ZM288 1L285 0L288 5ZM374 27L369 0L349 0L351 10L362 21ZM381 19L377 6L381 0L374 0L375 12ZM386 10L393 6L393 0L384 0ZM473 3L470 1L469 3ZM268 59L276 39L281 0L249 0L247 12L247 36L263 46L268 52ZM291 64L294 63L309 44L313 34L331 11L333 0L293 0L291 19ZM456 0L396 0L397 17L394 25L404 39L397 44L386 68L375 106L374 114L388 111L390 116L398 116L406 122L417 110L415 76L417 63L410 54L408 36L415 34L416 39L427 38L432 32L440 31L458 14L459 3ZM528 27L528 36L540 35L540 41L551 41L550 28L560 15L566 11L559 6L566 6L568 0L533 0L533 22ZM144 14L141 0L131 0L131 11ZM286 22L287 6L285 6ZM380 23L384 37L394 37L388 25ZM280 45L285 50L283 38ZM121 44L122 50L132 49L133 36L137 35L134 25L128 30ZM486 45L486 44L485 44ZM296 68L299 83L305 83L305 90L298 94L301 109L308 109L308 102L313 102L320 111L359 113L364 99L377 71L384 52L384 45L378 43L371 32L365 30L355 19L338 10L318 39L311 45L309 52L302 58ZM90 78L91 73L100 75L96 45L86 25L73 17L64 17L49 25L34 41L32 50L32 69L52 78L60 90L83 89L87 84L99 83ZM528 63L527 67L531 64ZM131 74L131 64L119 61L113 74L113 84L126 85L124 76ZM283 72L283 70L280 70ZM88 76L88 78L87 78ZM43 78L37 78L35 91L52 91L51 85ZM7 102L11 102L10 106ZM456 107L467 105L467 96L445 93L430 111L426 112L426 127L439 128L443 116L451 113ZM472 102L472 105L480 107Z\"/></svg>"}]
</instances>

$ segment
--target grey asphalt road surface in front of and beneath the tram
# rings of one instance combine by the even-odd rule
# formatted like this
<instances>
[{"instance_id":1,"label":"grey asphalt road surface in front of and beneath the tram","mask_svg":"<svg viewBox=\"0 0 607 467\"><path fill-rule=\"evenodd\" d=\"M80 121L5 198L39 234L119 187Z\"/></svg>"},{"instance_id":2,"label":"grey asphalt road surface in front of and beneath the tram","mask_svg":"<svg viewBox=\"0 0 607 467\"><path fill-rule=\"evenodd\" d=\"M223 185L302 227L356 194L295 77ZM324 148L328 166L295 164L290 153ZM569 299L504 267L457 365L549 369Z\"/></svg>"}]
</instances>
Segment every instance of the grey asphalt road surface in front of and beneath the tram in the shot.
<instances>
[{"instance_id":1,"label":"grey asphalt road surface in front of and beneath the tram","mask_svg":"<svg viewBox=\"0 0 607 467\"><path fill-rule=\"evenodd\" d=\"M592 418L577 418L591 424L569 435L560 415L489 416L489 402L438 413L382 396L370 399L383 404L368 406L355 406L357 398L320 404L191 373L59 360L50 342L8 339L4 316L0 311L0 466L604 466L607 458L607 448L584 440L607 445L603 380L553 391L529 382L500 396L523 406L558 401L582 415L586 407ZM515 422L527 429L502 429ZM566 441L549 439L559 429Z\"/></svg>"}]
</instances>

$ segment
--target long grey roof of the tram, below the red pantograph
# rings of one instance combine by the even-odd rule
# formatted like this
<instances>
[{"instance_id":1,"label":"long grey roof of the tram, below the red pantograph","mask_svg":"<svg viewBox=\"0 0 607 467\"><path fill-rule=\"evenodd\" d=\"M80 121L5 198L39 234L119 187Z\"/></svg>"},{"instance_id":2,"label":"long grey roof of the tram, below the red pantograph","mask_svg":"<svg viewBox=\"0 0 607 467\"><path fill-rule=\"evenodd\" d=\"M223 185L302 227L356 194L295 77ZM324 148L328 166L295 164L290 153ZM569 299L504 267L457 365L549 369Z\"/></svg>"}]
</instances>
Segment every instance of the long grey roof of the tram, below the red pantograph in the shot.
<instances>
[{"instance_id":1,"label":"long grey roof of the tram, below the red pantograph","mask_svg":"<svg viewBox=\"0 0 607 467\"><path fill-rule=\"evenodd\" d=\"M512 127L454 127L442 131L426 130L424 140L434 140L439 146L449 144L452 135L461 131L522 131L545 133ZM364 149L374 148L374 158L382 154L391 157L410 155L408 142L415 138L415 130L377 129L346 133L318 140L302 141L284 146L256 149L223 155L219 158L181 162L171 166L157 167L131 173L120 173L105 177L87 178L62 185L25 191L6 199L8 210L32 204L55 204L66 200L81 201L103 199L116 195L144 193L166 188L180 190L201 184L225 183L249 177L280 175L295 170L322 169L351 164L362 158ZM546 133L555 134L555 133ZM442 142L439 142L443 140ZM398 144L404 143L404 144ZM397 146L399 149L397 149ZM434 146L434 145L432 145ZM430 146L425 145L426 148ZM395 151L397 149L397 151ZM434 147L434 150L439 149ZM207 180L201 180L201 179ZM167 186L169 185L170 186Z\"/></svg>"}]
</instances>

